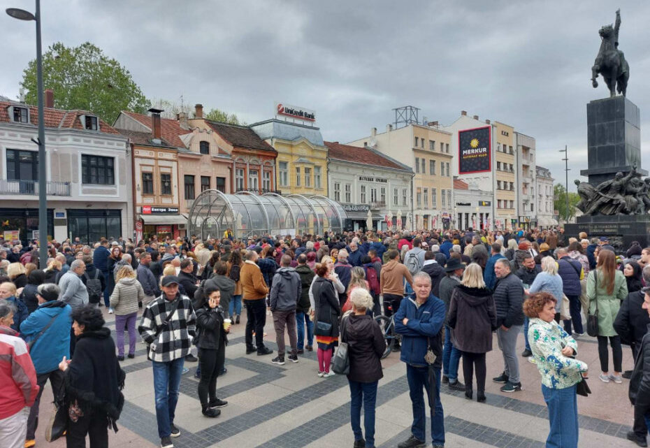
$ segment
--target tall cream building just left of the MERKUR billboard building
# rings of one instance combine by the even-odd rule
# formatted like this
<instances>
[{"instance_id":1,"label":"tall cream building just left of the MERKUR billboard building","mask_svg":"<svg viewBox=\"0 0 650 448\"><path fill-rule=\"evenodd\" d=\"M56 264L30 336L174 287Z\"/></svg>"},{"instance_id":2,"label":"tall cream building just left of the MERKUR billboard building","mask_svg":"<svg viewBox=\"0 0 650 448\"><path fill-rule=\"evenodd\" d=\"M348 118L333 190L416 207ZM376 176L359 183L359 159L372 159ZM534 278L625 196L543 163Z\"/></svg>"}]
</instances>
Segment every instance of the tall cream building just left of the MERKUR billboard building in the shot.
<instances>
[{"instance_id":1,"label":"tall cream building just left of the MERKUR billboard building","mask_svg":"<svg viewBox=\"0 0 650 448\"><path fill-rule=\"evenodd\" d=\"M354 140L349 145L370 147L408 166L414 173L408 214L415 229L448 229L452 225L454 189L452 179L452 133L438 127L436 122L425 126L408 124L386 132L370 131L370 136Z\"/></svg>"}]
</instances>

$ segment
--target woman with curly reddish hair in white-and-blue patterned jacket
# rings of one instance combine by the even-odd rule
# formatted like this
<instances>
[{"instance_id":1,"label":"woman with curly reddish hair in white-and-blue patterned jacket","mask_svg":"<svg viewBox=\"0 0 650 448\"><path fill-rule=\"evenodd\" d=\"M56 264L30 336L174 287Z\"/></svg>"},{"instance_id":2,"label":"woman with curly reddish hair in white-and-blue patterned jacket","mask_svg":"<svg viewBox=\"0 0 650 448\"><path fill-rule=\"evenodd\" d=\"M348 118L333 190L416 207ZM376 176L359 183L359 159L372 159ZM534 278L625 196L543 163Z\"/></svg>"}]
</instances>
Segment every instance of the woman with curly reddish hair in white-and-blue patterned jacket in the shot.
<instances>
[{"instance_id":1,"label":"woman with curly reddish hair in white-and-blue patterned jacket","mask_svg":"<svg viewBox=\"0 0 650 448\"><path fill-rule=\"evenodd\" d=\"M530 319L528 340L542 375L542 395L549 408L551 431L547 447L577 448L576 385L587 375L587 365L574 358L578 345L554 321L556 298L546 292L530 294L523 312Z\"/></svg>"}]
</instances>

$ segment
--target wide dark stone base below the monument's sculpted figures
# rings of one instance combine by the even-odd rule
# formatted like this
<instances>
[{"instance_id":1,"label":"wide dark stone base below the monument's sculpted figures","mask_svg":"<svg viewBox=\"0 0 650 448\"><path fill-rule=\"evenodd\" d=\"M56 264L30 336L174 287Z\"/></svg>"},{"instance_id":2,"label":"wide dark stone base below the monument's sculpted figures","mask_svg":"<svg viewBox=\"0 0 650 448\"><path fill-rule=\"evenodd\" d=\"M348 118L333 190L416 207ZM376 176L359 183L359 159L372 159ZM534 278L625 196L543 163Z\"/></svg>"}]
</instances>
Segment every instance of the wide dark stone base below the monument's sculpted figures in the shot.
<instances>
[{"instance_id":1,"label":"wide dark stone base below the monument's sculpted figures","mask_svg":"<svg viewBox=\"0 0 650 448\"><path fill-rule=\"evenodd\" d=\"M565 224L565 233L578 236L586 232L589 239L606 236L616 252L625 252L633 241L650 246L650 215L579 216L576 224Z\"/></svg>"}]
</instances>

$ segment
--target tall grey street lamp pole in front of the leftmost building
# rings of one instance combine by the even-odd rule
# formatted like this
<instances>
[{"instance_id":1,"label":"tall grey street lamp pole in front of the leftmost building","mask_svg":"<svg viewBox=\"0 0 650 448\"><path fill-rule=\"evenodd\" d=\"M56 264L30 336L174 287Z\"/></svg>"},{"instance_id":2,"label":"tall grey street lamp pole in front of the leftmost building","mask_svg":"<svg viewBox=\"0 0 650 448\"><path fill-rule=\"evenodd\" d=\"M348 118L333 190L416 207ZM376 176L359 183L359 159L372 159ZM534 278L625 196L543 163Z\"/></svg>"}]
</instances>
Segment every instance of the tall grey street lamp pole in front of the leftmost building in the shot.
<instances>
[{"instance_id":1,"label":"tall grey street lamp pole in front of the leftmost building","mask_svg":"<svg viewBox=\"0 0 650 448\"><path fill-rule=\"evenodd\" d=\"M38 259L41 269L48 267L48 178L45 170L45 115L43 114L43 55L41 50L41 0L36 0L36 15L18 8L7 8L18 20L36 22L36 85L38 86Z\"/></svg>"}]
</instances>

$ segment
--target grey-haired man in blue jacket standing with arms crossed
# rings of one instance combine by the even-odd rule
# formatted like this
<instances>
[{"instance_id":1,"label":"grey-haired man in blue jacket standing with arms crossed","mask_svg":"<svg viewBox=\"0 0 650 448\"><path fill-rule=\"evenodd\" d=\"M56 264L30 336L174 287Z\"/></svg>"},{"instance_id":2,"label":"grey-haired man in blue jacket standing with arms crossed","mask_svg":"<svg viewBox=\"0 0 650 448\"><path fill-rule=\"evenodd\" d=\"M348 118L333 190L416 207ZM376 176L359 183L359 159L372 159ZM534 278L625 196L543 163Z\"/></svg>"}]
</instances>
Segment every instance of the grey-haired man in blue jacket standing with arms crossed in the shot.
<instances>
[{"instance_id":1,"label":"grey-haired man in blue jacket standing with arms crossed","mask_svg":"<svg viewBox=\"0 0 650 448\"><path fill-rule=\"evenodd\" d=\"M440 403L440 368L445 303L431 294L431 277L427 273L414 275L413 287L414 298L404 298L395 315L395 331L402 335L400 359L406 363L406 377L413 405L412 435L398 447L424 446L426 443L423 387L429 398L433 447L444 447L445 416ZM435 384L431 384L429 367L424 359L429 347L435 354L431 367Z\"/></svg>"}]
</instances>

